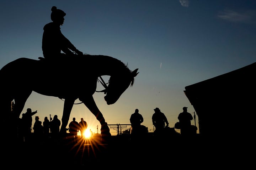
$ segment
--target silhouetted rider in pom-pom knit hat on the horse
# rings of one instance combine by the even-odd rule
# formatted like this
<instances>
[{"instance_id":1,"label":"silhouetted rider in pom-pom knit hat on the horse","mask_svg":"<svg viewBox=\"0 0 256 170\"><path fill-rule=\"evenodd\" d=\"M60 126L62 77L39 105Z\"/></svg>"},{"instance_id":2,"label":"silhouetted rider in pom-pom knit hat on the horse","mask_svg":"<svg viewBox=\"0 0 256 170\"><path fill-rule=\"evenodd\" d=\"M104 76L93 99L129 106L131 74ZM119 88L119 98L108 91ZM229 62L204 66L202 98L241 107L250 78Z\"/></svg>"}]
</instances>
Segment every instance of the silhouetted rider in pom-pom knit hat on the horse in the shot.
<instances>
[{"instance_id":1,"label":"silhouetted rider in pom-pom knit hat on the horse","mask_svg":"<svg viewBox=\"0 0 256 170\"><path fill-rule=\"evenodd\" d=\"M57 9L56 6L53 6L51 10L53 22L46 24L43 28L42 50L44 58L57 59L64 56L74 56L72 51L78 55L83 55L60 31L60 26L64 23L66 13ZM61 51L64 53L61 53Z\"/></svg>"}]
</instances>

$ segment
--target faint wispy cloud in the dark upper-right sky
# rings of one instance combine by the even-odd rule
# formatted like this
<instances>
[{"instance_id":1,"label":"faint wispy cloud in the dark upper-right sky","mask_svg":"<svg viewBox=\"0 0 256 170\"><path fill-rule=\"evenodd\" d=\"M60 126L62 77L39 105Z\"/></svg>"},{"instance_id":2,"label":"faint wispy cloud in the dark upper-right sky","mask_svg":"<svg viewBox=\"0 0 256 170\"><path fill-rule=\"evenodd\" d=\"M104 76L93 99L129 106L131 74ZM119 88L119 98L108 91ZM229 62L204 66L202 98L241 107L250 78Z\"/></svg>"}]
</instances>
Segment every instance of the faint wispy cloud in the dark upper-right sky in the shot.
<instances>
[{"instance_id":1,"label":"faint wispy cloud in the dark upper-right sky","mask_svg":"<svg viewBox=\"0 0 256 170\"><path fill-rule=\"evenodd\" d=\"M229 22L255 23L255 14L255 11L236 12L232 10L224 10L219 12L218 17Z\"/></svg>"}]
</instances>

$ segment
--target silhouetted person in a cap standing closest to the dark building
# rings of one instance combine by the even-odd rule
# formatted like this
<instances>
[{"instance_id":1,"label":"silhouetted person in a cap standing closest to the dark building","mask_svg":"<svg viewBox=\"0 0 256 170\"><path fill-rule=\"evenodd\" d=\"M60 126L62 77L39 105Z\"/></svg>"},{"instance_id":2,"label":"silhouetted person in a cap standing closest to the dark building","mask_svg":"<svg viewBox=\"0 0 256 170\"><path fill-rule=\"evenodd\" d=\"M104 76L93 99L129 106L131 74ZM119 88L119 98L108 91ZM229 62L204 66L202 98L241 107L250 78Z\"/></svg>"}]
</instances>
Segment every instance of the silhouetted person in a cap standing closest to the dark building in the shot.
<instances>
[{"instance_id":1,"label":"silhouetted person in a cap standing closest to the dark building","mask_svg":"<svg viewBox=\"0 0 256 170\"><path fill-rule=\"evenodd\" d=\"M187 107L183 107L182 109L183 112L178 115L178 120L181 124L181 135L189 136L191 134L191 120L193 120L193 116L187 112Z\"/></svg>"}]
</instances>

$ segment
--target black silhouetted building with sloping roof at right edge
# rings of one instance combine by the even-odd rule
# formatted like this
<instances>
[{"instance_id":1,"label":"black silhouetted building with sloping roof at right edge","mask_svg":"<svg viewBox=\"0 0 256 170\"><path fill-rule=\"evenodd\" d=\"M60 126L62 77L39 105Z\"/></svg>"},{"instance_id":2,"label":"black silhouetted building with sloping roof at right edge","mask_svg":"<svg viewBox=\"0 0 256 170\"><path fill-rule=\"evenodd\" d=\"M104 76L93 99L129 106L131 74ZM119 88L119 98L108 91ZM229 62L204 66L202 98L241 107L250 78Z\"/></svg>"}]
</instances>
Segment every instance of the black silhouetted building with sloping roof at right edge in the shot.
<instances>
[{"instance_id":1,"label":"black silhouetted building with sloping roof at right edge","mask_svg":"<svg viewBox=\"0 0 256 170\"><path fill-rule=\"evenodd\" d=\"M185 87L198 115L199 134L227 142L252 142L256 114L256 62Z\"/></svg>"}]
</instances>

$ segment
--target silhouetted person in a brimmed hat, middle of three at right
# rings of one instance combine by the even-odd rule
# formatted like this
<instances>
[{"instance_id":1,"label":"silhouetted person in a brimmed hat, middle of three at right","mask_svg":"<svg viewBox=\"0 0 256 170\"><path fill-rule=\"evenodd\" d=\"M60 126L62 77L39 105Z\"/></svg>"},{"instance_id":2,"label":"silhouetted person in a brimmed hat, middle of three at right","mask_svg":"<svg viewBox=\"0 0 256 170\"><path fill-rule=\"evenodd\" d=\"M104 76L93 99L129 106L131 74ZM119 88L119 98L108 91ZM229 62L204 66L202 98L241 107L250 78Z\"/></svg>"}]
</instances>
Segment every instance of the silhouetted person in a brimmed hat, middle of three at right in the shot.
<instances>
[{"instance_id":1,"label":"silhouetted person in a brimmed hat, middle of three at right","mask_svg":"<svg viewBox=\"0 0 256 170\"><path fill-rule=\"evenodd\" d=\"M156 107L154 109L155 113L152 115L152 122L155 126L155 132L160 134L164 131L165 123L166 126L169 125L168 120L164 113L160 112L160 109Z\"/></svg>"}]
</instances>

